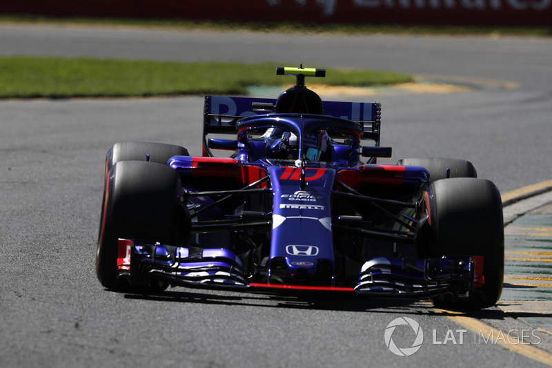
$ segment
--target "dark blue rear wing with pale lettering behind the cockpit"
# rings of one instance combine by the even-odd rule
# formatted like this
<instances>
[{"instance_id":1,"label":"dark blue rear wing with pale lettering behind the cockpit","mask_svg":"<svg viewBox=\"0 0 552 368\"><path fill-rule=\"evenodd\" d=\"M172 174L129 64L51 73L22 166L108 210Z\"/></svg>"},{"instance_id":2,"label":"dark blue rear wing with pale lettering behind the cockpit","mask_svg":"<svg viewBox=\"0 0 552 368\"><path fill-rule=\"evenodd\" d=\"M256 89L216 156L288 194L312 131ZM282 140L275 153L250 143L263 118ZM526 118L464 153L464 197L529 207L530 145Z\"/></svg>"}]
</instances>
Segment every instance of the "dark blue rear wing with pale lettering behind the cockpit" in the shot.
<instances>
[{"instance_id":1,"label":"dark blue rear wing with pale lettering behind the cockpit","mask_svg":"<svg viewBox=\"0 0 552 368\"><path fill-rule=\"evenodd\" d=\"M242 117L266 115L273 111L276 99L255 97L206 96L204 105L204 151L208 134L237 134L236 124ZM323 101L324 115L352 120L362 126L362 139L380 146L382 105L369 102Z\"/></svg>"}]
</instances>

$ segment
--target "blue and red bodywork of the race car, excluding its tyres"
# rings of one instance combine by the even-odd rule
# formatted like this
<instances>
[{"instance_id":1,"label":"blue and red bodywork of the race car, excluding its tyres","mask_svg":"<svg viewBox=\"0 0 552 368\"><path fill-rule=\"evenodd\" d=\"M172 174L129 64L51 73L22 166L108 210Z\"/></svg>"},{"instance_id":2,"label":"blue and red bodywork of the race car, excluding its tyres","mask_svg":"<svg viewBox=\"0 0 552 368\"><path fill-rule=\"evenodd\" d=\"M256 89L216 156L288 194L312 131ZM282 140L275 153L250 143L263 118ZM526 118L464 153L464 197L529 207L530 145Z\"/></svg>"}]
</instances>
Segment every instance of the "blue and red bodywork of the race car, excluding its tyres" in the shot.
<instances>
[{"instance_id":1,"label":"blue and red bodywork of the race car, excluding its tyres","mask_svg":"<svg viewBox=\"0 0 552 368\"><path fill-rule=\"evenodd\" d=\"M469 296L480 282L473 258L424 257L428 171L377 164L391 151L380 147L380 104L324 101L322 114L277 106L206 97L203 156L168 161L183 183L188 242L120 240L131 243L130 261L121 260L131 283ZM313 161L306 141L320 132L327 148ZM208 137L217 134L233 138ZM363 152L373 157L364 163Z\"/></svg>"}]
</instances>

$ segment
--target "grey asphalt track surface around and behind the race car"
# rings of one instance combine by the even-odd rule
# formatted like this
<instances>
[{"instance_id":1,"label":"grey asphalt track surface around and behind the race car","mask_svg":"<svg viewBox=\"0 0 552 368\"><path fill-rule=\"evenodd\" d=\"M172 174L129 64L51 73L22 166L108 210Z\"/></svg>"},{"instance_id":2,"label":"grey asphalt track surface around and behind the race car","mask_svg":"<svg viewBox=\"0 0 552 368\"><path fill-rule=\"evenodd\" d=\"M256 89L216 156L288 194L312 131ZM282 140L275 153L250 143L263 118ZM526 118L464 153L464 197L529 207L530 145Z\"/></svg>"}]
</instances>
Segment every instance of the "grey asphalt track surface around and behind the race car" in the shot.
<instances>
[{"instance_id":1,"label":"grey asphalt track surface around and behind the race car","mask_svg":"<svg viewBox=\"0 0 552 368\"><path fill-rule=\"evenodd\" d=\"M551 179L552 41L484 37L337 37L0 26L2 55L304 62L500 79L451 95L386 95L382 144L402 157L462 157L505 193ZM341 97L337 97L341 98ZM348 98L343 98L348 99ZM360 100L359 97L354 99ZM363 99L364 100L364 99ZM0 102L0 367L538 367L499 345L443 340L459 325L423 302L294 300L170 289L105 291L94 275L103 159L121 140L200 153L202 100ZM389 322L420 323L410 357L384 342ZM498 309L474 317L528 326ZM533 330L531 330L533 331ZM393 335L412 342L408 331ZM551 350L537 331L535 347Z\"/></svg>"}]
</instances>

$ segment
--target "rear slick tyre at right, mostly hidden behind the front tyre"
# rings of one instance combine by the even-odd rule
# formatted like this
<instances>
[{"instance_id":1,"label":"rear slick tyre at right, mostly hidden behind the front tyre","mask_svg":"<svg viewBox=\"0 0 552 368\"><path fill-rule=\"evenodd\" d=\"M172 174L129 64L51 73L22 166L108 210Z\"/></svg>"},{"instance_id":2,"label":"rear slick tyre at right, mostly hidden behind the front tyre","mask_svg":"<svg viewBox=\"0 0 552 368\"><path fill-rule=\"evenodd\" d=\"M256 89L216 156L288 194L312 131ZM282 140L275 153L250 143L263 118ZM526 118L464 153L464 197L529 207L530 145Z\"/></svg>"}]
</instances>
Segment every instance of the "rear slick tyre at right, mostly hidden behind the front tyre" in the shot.
<instances>
[{"instance_id":1,"label":"rear slick tyre at right, mostly hidden behind the front tyre","mask_svg":"<svg viewBox=\"0 0 552 368\"><path fill-rule=\"evenodd\" d=\"M422 166L429 172L429 182L446 179L446 172L451 169L449 177L477 177L473 164L464 159L453 158L407 158L400 159L397 165Z\"/></svg>"}]
</instances>

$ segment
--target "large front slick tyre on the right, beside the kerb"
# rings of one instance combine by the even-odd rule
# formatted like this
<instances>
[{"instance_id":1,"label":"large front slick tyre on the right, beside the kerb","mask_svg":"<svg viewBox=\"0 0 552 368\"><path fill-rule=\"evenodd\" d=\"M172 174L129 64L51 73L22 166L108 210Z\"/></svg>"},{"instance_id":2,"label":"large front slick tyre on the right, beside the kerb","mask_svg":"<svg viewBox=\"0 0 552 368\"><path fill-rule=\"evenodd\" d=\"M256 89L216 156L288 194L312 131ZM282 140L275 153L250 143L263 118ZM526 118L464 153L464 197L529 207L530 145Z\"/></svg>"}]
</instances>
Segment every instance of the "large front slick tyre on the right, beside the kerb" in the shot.
<instances>
[{"instance_id":1,"label":"large front slick tyre on the right, beside the kerb","mask_svg":"<svg viewBox=\"0 0 552 368\"><path fill-rule=\"evenodd\" d=\"M437 307L482 309L496 304L504 277L504 223L502 201L489 180L460 177L437 180L426 197L429 215L429 254L482 255L484 285L473 298L453 301L437 298Z\"/></svg>"}]
</instances>

